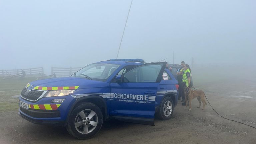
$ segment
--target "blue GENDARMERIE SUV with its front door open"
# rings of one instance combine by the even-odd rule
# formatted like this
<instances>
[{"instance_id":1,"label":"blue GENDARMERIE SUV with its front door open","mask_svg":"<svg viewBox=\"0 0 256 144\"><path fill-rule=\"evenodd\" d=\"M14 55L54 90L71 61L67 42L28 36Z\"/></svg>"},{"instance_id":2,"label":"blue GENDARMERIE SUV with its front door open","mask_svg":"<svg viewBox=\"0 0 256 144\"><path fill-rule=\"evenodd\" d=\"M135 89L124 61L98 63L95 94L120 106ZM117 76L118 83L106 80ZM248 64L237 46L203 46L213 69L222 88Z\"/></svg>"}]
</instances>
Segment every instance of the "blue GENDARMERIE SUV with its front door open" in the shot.
<instances>
[{"instance_id":1,"label":"blue GENDARMERIE SUV with its front door open","mask_svg":"<svg viewBox=\"0 0 256 144\"><path fill-rule=\"evenodd\" d=\"M72 136L88 139L108 118L147 125L154 125L155 114L170 119L177 89L165 62L110 59L70 77L30 82L21 92L19 115L36 124L66 126Z\"/></svg>"}]
</instances>

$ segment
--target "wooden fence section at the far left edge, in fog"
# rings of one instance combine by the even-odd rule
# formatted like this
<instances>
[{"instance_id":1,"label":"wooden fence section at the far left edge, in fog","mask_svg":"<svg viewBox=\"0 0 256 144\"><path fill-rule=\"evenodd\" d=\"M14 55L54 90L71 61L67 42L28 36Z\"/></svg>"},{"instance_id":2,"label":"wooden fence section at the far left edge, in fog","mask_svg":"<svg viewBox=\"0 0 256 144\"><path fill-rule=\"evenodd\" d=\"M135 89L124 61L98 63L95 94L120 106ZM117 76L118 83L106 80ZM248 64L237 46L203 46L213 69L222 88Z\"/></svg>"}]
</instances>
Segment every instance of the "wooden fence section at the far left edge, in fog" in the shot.
<instances>
[{"instance_id":1,"label":"wooden fence section at the far left edge, in fog","mask_svg":"<svg viewBox=\"0 0 256 144\"><path fill-rule=\"evenodd\" d=\"M44 68L30 68L30 69L14 69L14 70L0 70L0 75L2 76L13 76L17 74L21 74L22 70L25 71L26 75L33 75L33 74L44 74Z\"/></svg>"}]
</instances>

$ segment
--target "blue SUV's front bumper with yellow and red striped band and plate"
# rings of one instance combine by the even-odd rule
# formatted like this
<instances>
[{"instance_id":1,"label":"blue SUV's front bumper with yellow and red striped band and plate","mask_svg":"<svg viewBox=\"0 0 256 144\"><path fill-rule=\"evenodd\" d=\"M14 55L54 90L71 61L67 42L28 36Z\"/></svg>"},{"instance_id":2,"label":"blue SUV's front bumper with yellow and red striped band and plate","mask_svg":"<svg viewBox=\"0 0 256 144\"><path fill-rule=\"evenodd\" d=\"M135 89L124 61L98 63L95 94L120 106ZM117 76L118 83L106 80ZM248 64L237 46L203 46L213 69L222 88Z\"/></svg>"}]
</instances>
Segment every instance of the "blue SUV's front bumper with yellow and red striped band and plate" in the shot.
<instances>
[{"instance_id":1,"label":"blue SUV's front bumper with yellow and red striped band and plate","mask_svg":"<svg viewBox=\"0 0 256 144\"><path fill-rule=\"evenodd\" d=\"M20 97L19 100L27 103L29 108L26 109L19 106L18 114L35 124L64 126L70 107L75 99L72 96L61 96L59 98L65 98L65 101L61 104L52 103L51 101L56 99L56 97L47 97L39 99L36 102L31 102Z\"/></svg>"}]
</instances>

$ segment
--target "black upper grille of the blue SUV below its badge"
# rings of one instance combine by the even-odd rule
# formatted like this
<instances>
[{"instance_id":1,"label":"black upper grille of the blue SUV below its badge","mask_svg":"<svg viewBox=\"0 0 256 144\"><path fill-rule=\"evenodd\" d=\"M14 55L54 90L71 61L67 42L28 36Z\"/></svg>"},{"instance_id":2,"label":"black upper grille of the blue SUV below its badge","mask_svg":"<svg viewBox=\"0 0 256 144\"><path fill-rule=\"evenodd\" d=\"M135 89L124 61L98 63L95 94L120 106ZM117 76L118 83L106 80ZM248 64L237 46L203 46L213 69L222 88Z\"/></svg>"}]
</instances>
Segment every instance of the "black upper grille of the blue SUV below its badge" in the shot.
<instances>
[{"instance_id":1,"label":"black upper grille of the blue SUV below its badge","mask_svg":"<svg viewBox=\"0 0 256 144\"><path fill-rule=\"evenodd\" d=\"M28 91L27 88L24 88L22 91L21 91L21 96L25 99L28 99L28 100L32 100L32 101L35 101L37 100L42 94L43 94L44 91L38 91L38 90L31 90L31 91Z\"/></svg>"}]
</instances>

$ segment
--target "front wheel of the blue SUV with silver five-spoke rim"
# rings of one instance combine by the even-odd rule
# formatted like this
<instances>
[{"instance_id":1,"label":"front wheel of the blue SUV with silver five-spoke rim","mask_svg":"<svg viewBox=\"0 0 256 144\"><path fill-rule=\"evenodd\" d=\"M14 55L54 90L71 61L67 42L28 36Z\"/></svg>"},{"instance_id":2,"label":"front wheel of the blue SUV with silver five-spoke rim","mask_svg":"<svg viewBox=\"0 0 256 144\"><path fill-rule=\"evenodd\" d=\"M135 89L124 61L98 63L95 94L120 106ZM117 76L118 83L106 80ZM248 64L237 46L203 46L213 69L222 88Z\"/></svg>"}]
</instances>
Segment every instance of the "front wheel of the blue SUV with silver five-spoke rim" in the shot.
<instances>
[{"instance_id":1,"label":"front wheel of the blue SUV with silver five-spoke rim","mask_svg":"<svg viewBox=\"0 0 256 144\"><path fill-rule=\"evenodd\" d=\"M71 112L67 131L78 139L89 139L99 132L102 123L100 108L93 103L84 102Z\"/></svg>"}]
</instances>

